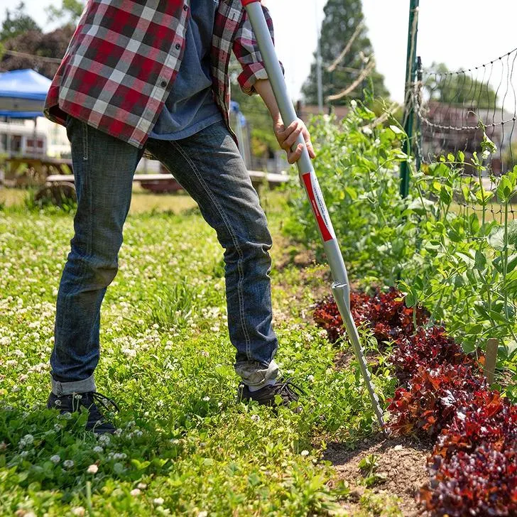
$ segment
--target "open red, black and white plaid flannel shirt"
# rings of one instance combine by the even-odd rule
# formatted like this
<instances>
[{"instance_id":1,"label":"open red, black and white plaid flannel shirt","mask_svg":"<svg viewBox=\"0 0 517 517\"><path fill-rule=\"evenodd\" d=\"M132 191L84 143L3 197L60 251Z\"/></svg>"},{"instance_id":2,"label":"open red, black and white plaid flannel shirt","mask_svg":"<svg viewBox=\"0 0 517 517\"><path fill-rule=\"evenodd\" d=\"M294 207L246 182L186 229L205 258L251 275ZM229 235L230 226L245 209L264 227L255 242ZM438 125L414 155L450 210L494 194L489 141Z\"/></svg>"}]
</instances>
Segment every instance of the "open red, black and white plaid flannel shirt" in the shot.
<instances>
[{"instance_id":1,"label":"open red, black and white plaid flannel shirt","mask_svg":"<svg viewBox=\"0 0 517 517\"><path fill-rule=\"evenodd\" d=\"M189 0L88 0L50 85L45 115L65 124L70 114L141 148L178 75L189 11ZM219 0L212 89L228 126L232 50L243 67L239 85L251 94L256 80L267 78L251 24L241 0Z\"/></svg>"}]
</instances>

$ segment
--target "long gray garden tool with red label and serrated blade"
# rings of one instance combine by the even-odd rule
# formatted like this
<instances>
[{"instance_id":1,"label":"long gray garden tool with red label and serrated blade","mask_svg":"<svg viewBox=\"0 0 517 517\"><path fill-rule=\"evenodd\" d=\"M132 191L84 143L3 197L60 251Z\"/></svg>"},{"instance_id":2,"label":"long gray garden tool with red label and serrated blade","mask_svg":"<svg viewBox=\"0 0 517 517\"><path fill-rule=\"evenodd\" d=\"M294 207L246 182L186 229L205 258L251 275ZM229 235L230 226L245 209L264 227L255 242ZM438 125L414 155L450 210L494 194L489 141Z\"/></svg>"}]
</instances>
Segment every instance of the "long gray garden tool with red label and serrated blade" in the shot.
<instances>
[{"instance_id":1,"label":"long gray garden tool with red label and serrated blade","mask_svg":"<svg viewBox=\"0 0 517 517\"><path fill-rule=\"evenodd\" d=\"M293 104L291 104L288 96L281 66L276 56L276 50L273 45L273 40L271 40L271 34L269 33L260 0L241 1L248 13L249 21L251 22L251 26L254 30L258 48L261 51L262 59L266 67L266 71L268 72L268 77L271 82L271 87L273 88L273 93L275 94L278 108L280 109L283 123L285 126L288 126L298 117L296 116ZM337 244L332 222L330 222L330 217L327 212L327 206L325 205L325 200L323 200L320 185L317 183L315 171L312 167L309 153L302 135L298 136L298 141L295 143L295 146L298 146L298 143L303 144L303 153L297 163L298 173L300 175L301 182L305 186L305 192L307 192L309 197L312 213L316 219L317 227L323 241L323 248L325 249L325 254L329 261L333 279L332 293L336 300L337 307L339 308L344 326L347 329L348 337L352 342L352 347L354 348L354 353L357 361L359 362L359 367L361 369L364 382L366 383L366 388L368 388L371 403L374 406L375 414L377 415L377 420L379 420L379 424L381 425L381 428L383 428L383 411L379 403L379 398L377 398L374 391L374 386L371 382L368 368L366 367L364 350L361 347L359 333L357 332L357 327L355 326L352 313L350 312L350 287L348 283L347 268L344 266L343 257L339 250L339 245Z\"/></svg>"}]
</instances>

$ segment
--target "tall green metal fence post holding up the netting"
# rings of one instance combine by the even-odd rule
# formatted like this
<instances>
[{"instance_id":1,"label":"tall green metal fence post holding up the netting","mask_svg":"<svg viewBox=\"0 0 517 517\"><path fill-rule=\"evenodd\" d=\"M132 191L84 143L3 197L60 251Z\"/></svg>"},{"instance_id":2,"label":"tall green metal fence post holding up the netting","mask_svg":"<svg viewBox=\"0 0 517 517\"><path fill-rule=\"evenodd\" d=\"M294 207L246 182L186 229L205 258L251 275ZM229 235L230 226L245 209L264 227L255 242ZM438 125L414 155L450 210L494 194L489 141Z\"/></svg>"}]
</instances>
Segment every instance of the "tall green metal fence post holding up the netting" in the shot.
<instances>
[{"instance_id":1,"label":"tall green metal fence post holding up the netting","mask_svg":"<svg viewBox=\"0 0 517 517\"><path fill-rule=\"evenodd\" d=\"M406 59L406 87L404 89L404 130L408 135L406 140L406 153L411 154L413 143L413 124L415 111L413 109L413 94L411 88L415 80L417 70L416 63L416 42L418 34L418 5L420 0L410 0L409 25L408 25L408 54ZM409 193L409 165L407 162L401 165L401 196L406 197Z\"/></svg>"}]
</instances>

